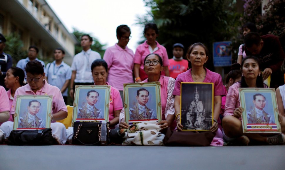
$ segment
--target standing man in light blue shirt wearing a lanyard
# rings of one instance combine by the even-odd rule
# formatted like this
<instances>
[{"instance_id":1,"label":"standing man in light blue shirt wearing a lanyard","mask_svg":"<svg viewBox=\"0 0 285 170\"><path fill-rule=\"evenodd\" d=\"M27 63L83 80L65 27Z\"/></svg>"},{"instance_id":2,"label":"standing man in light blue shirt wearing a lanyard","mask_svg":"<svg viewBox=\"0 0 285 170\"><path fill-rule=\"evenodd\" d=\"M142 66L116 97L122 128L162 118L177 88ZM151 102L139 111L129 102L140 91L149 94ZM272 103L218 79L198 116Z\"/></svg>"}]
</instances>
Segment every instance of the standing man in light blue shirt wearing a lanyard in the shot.
<instances>
[{"instance_id":1,"label":"standing man in light blue shirt wearing a lanyard","mask_svg":"<svg viewBox=\"0 0 285 170\"><path fill-rule=\"evenodd\" d=\"M58 87L67 105L67 87L71 79L71 68L63 62L65 51L57 48L53 51L54 61L45 67L46 80L49 84Z\"/></svg>"}]
</instances>

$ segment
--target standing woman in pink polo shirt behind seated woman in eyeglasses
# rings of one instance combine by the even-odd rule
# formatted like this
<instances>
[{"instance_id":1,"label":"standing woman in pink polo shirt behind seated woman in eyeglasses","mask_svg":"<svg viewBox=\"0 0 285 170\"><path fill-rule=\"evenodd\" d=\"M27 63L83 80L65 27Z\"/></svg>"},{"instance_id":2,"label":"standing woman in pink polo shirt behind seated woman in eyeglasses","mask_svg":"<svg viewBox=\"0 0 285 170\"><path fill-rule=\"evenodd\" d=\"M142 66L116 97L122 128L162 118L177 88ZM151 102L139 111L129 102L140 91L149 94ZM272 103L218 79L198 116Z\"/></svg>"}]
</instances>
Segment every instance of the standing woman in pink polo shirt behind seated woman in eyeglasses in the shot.
<instances>
[{"instance_id":1,"label":"standing woman in pink polo shirt behind seated woman in eyeglasses","mask_svg":"<svg viewBox=\"0 0 285 170\"><path fill-rule=\"evenodd\" d=\"M147 79L147 74L144 71L144 60L145 57L151 53L158 54L162 58L164 71L162 71L161 75L169 76L169 60L167 52L165 47L163 47L156 41L158 33L159 32L156 24L148 23L145 25L143 35L147 40L145 40L143 44L140 44L135 51L134 74L136 82L141 82Z\"/></svg>"}]
</instances>

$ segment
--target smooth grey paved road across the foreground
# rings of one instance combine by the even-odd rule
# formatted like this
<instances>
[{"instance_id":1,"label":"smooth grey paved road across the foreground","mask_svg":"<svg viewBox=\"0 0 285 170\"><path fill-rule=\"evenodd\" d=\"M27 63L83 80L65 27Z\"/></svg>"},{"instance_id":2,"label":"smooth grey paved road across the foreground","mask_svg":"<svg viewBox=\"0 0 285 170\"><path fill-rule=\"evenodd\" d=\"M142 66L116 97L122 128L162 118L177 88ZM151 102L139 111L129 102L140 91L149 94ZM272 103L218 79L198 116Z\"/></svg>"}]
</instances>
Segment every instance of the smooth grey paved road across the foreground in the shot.
<instances>
[{"instance_id":1,"label":"smooth grey paved road across the foreground","mask_svg":"<svg viewBox=\"0 0 285 170\"><path fill-rule=\"evenodd\" d=\"M285 169L283 146L0 146L0 169Z\"/></svg>"}]
</instances>

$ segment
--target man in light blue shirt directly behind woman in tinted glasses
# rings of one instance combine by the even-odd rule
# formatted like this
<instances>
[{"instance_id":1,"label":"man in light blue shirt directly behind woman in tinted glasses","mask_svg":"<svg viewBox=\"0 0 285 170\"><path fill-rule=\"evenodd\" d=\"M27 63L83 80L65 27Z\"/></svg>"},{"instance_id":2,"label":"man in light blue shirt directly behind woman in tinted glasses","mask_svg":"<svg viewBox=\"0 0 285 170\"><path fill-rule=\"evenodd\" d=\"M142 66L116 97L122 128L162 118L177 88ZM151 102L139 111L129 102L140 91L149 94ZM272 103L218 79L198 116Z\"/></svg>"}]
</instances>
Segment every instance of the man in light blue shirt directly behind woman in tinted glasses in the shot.
<instances>
[{"instance_id":1,"label":"man in light blue shirt directly behind woman in tinted glasses","mask_svg":"<svg viewBox=\"0 0 285 170\"><path fill-rule=\"evenodd\" d=\"M38 60L37 56L38 56L38 47L31 45L29 47L28 57L20 60L17 63L17 67L24 70L25 76L26 76L26 70L25 70L26 64L30 61ZM43 64L43 66L45 66L45 63L43 61L41 61L41 60L38 60L38 61L41 62L41 64Z\"/></svg>"}]
</instances>

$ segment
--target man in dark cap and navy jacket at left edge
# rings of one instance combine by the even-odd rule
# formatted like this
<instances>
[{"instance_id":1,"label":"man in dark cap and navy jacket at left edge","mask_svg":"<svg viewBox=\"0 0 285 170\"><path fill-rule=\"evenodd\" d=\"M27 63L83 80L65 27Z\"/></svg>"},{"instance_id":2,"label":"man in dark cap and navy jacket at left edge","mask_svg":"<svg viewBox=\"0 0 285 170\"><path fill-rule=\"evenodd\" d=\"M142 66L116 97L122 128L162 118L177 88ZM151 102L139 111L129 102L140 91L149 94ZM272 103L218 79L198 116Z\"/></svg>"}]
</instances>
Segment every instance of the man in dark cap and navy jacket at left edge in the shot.
<instances>
[{"instance_id":1,"label":"man in dark cap and navy jacket at left edge","mask_svg":"<svg viewBox=\"0 0 285 170\"><path fill-rule=\"evenodd\" d=\"M6 46L5 42L6 38L0 34L0 86L3 86L6 89L4 78L6 77L6 72L12 67L12 57L3 52Z\"/></svg>"}]
</instances>

